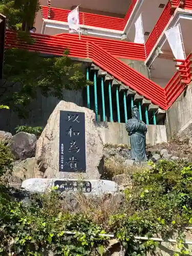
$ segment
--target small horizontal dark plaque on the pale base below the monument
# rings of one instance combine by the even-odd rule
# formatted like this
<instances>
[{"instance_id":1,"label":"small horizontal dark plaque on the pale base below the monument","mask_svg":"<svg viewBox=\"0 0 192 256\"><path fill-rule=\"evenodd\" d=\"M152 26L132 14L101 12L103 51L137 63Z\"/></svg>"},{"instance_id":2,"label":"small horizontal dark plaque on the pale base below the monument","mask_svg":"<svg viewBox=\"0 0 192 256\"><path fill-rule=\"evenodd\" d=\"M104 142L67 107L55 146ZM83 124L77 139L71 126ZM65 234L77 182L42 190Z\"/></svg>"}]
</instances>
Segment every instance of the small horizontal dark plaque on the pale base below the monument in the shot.
<instances>
[{"instance_id":1,"label":"small horizontal dark plaque on the pale base below the monument","mask_svg":"<svg viewBox=\"0 0 192 256\"><path fill-rule=\"evenodd\" d=\"M57 186L60 192L64 191L82 191L83 193L91 193L92 185L90 181L76 181L76 180L56 180L54 186Z\"/></svg>"}]
</instances>

